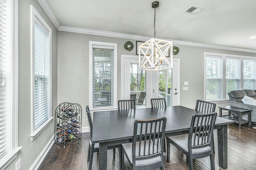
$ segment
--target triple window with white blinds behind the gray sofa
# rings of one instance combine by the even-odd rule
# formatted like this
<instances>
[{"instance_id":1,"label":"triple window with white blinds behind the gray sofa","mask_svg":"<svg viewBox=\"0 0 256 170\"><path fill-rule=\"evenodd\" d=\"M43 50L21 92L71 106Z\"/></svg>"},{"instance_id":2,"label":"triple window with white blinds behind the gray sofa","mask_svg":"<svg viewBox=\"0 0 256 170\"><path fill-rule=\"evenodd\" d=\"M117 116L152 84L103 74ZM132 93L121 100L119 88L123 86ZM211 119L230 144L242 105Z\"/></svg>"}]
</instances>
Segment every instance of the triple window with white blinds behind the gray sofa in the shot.
<instances>
[{"instance_id":1,"label":"triple window with white blinds behind the gray sofa","mask_svg":"<svg viewBox=\"0 0 256 170\"><path fill-rule=\"evenodd\" d=\"M204 56L206 100L229 100L232 90L256 89L255 57L213 53Z\"/></svg>"}]
</instances>

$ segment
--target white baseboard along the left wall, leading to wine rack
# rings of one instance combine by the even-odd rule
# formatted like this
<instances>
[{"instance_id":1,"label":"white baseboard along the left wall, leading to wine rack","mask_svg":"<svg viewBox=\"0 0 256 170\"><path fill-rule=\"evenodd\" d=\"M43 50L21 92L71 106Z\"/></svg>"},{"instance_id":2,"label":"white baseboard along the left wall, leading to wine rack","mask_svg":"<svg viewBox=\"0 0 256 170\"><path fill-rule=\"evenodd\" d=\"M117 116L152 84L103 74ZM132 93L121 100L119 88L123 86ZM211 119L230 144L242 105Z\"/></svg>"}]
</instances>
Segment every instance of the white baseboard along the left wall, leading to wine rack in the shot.
<instances>
[{"instance_id":1,"label":"white baseboard along the left wall, leading to wine rack","mask_svg":"<svg viewBox=\"0 0 256 170\"><path fill-rule=\"evenodd\" d=\"M43 162L46 154L51 149L52 145L54 144L54 135L51 137L50 141L46 144L42 152L39 154L39 156L36 158L35 162L32 164L32 166L29 168L29 170L37 170L40 166L40 164Z\"/></svg>"}]
</instances>

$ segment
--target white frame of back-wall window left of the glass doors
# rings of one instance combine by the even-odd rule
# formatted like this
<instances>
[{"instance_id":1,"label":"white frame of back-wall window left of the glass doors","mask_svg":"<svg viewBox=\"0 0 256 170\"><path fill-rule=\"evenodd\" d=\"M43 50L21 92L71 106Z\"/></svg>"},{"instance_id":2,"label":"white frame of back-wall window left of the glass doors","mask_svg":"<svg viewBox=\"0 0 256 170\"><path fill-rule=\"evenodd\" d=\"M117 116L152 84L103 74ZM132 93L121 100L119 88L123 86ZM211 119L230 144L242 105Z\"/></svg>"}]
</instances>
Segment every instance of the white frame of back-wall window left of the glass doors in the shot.
<instances>
[{"instance_id":1,"label":"white frame of back-wall window left of the glass doors","mask_svg":"<svg viewBox=\"0 0 256 170\"><path fill-rule=\"evenodd\" d=\"M100 46L111 46L114 47L114 104L113 107L94 107L93 108L93 96L92 96L92 55L93 55L93 45L100 45ZM99 42L99 41L89 41L89 107L90 110L105 110L105 109L117 109L117 43L106 43L106 42Z\"/></svg>"}]
</instances>

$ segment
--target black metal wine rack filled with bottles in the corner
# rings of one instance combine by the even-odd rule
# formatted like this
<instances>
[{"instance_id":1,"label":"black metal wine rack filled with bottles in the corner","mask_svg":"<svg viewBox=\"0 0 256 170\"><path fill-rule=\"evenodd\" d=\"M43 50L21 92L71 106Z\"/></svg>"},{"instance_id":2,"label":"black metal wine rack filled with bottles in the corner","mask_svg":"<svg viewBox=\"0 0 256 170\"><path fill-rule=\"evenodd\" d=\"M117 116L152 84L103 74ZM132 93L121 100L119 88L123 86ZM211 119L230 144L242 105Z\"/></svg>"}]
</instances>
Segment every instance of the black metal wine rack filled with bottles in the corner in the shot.
<instances>
[{"instance_id":1,"label":"black metal wine rack filled with bottles in the corner","mask_svg":"<svg viewBox=\"0 0 256 170\"><path fill-rule=\"evenodd\" d=\"M60 104L55 110L55 143L65 147L80 139L81 121L82 108L79 104Z\"/></svg>"}]
</instances>

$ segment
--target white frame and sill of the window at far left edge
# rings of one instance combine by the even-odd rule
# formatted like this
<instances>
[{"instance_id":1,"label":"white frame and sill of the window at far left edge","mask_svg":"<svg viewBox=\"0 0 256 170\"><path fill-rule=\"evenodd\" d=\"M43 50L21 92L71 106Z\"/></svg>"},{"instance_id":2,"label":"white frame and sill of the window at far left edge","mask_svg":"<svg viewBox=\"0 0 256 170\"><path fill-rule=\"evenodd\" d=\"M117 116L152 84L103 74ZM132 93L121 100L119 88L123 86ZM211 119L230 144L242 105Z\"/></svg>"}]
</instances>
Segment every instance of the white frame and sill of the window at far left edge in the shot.
<instances>
[{"instance_id":1,"label":"white frame and sill of the window at far left edge","mask_svg":"<svg viewBox=\"0 0 256 170\"><path fill-rule=\"evenodd\" d=\"M7 154L0 158L0 169L5 169L22 147L18 147L18 0L7 0L10 10L10 116Z\"/></svg>"}]
</instances>

